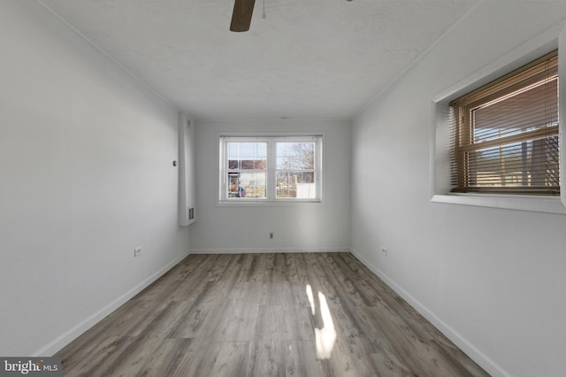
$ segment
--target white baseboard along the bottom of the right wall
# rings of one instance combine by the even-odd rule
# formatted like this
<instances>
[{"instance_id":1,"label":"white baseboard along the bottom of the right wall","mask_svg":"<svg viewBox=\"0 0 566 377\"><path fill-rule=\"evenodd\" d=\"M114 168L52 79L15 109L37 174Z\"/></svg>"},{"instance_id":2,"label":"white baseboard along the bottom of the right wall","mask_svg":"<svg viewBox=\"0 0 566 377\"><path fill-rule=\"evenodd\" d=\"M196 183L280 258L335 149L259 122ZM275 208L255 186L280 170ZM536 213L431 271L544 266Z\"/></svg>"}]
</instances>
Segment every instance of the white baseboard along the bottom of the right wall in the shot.
<instances>
[{"instance_id":1,"label":"white baseboard along the bottom of the right wall","mask_svg":"<svg viewBox=\"0 0 566 377\"><path fill-rule=\"evenodd\" d=\"M432 326L436 327L440 333L445 335L450 341L454 342L455 345L463 352L468 355L472 360L474 360L478 365L486 370L487 373L491 374L493 377L510 377L510 374L505 372L500 365L497 365L491 358L488 358L486 354L478 350L476 346L470 343L467 339L458 333L454 328L448 326L442 319L431 312L424 304L420 303L415 297L411 296L408 291L402 289L395 281L393 281L385 273L382 273L378 267L372 265L366 258L356 252L356 250L351 251L352 254L360 260L366 267L368 267L372 273L375 273L379 279L384 281L387 286L395 291L399 296L407 301L417 312L419 312L425 319L432 323Z\"/></svg>"}]
</instances>

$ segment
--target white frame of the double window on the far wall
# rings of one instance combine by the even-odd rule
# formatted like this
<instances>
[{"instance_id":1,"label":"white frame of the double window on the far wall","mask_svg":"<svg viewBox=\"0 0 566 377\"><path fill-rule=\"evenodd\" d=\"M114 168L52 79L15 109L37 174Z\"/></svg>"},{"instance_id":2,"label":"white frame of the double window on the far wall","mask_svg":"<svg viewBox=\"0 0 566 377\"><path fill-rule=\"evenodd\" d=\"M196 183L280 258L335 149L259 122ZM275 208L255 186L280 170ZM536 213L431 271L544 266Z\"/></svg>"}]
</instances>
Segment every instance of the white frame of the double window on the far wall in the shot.
<instances>
[{"instance_id":1,"label":"white frame of the double window on the far wall","mask_svg":"<svg viewBox=\"0 0 566 377\"><path fill-rule=\"evenodd\" d=\"M220 133L218 134L218 205L288 205L300 203L322 203L323 196L323 133L292 133L269 135L262 133ZM266 142L266 174L265 197L229 197L228 173L230 170L227 159L227 144L237 142ZM278 142L315 142L315 166L310 169L315 173L315 197L293 198L277 197L277 155ZM299 169L301 170L301 169Z\"/></svg>"}]
</instances>

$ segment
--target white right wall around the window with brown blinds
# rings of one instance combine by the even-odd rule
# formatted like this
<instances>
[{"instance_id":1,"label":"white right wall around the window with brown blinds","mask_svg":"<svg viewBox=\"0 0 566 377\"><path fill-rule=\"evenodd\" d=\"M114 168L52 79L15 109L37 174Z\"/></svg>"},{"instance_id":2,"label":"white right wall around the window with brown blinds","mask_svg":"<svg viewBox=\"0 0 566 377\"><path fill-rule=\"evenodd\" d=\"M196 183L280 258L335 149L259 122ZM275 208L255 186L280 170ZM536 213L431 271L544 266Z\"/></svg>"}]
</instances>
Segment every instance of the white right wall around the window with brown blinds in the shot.
<instances>
[{"instance_id":1,"label":"white right wall around the window with brown blinds","mask_svg":"<svg viewBox=\"0 0 566 377\"><path fill-rule=\"evenodd\" d=\"M430 202L431 101L565 14L479 4L353 122L353 252L493 375L564 375L566 217Z\"/></svg>"}]
</instances>

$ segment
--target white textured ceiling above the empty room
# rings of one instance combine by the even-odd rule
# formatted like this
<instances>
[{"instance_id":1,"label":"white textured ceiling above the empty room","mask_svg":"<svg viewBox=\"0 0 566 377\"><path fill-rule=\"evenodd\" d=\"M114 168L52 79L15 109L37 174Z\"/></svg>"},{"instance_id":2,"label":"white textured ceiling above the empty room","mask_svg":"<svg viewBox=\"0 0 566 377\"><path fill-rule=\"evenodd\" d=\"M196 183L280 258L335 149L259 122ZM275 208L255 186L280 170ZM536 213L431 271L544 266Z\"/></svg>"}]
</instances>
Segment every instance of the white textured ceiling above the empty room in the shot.
<instances>
[{"instance_id":1,"label":"white textured ceiling above the empty room","mask_svg":"<svg viewBox=\"0 0 566 377\"><path fill-rule=\"evenodd\" d=\"M475 1L38 0L197 119L348 119ZM262 19L263 7L267 17Z\"/></svg>"}]
</instances>

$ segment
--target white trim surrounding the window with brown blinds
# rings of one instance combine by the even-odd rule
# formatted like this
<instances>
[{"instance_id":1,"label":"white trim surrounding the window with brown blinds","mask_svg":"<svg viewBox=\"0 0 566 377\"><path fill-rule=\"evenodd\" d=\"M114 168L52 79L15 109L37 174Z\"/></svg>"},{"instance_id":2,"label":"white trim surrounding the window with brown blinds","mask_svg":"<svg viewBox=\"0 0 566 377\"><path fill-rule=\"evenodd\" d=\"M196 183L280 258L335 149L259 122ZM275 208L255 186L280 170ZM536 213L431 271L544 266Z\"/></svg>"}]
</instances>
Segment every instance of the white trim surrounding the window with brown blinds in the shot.
<instances>
[{"instance_id":1,"label":"white trim surrounding the window with brown blinds","mask_svg":"<svg viewBox=\"0 0 566 377\"><path fill-rule=\"evenodd\" d=\"M515 195L488 195L488 194L452 194L449 192L449 171L446 150L440 150L447 145L446 127L447 110L451 100L463 96L474 88L479 88L487 82L501 77L514 69L539 58L557 47L559 56L559 91L566 93L566 33L562 30L563 24L557 24L546 32L537 35L532 40L522 43L519 47L509 51L501 58L495 59L491 64L482 67L475 73L456 82L436 96L432 96L431 105L431 151L430 151L430 189L431 202L446 204L477 205L483 207L502 208L518 211L547 212L566 214L566 122L559 125L559 145L561 155L561 196L515 196ZM563 90L562 90L563 89ZM560 119L566 109L566 96L560 96Z\"/></svg>"}]
</instances>

